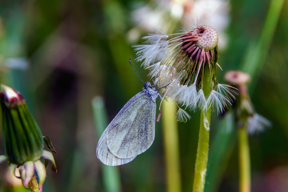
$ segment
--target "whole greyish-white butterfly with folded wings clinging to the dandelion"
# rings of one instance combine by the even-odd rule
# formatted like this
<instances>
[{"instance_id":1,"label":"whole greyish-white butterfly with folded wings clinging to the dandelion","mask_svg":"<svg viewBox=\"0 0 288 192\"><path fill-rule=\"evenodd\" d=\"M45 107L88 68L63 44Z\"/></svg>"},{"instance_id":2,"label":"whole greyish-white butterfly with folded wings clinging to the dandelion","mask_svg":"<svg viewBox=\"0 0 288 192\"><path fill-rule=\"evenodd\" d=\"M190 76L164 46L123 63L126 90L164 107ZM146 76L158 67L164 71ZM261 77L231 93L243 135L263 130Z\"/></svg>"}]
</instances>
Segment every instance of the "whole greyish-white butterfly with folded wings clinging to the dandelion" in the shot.
<instances>
[{"instance_id":1,"label":"whole greyish-white butterfly with folded wings clinging to the dandelion","mask_svg":"<svg viewBox=\"0 0 288 192\"><path fill-rule=\"evenodd\" d=\"M132 97L109 123L97 145L98 159L105 165L129 163L146 151L155 136L156 98L160 94L144 83L143 91Z\"/></svg>"}]
</instances>

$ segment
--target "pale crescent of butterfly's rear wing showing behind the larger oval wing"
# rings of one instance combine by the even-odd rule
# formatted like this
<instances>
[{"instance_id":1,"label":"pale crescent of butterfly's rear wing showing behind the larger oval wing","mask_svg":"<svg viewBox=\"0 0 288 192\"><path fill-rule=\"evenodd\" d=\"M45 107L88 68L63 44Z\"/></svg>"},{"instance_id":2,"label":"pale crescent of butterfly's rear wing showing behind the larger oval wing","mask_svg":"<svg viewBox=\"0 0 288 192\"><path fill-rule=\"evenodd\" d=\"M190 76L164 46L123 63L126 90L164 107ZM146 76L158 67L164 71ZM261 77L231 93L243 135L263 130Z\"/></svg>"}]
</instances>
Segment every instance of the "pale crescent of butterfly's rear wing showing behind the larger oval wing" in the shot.
<instances>
[{"instance_id":1,"label":"pale crescent of butterfly's rear wing showing behind the larger oval wing","mask_svg":"<svg viewBox=\"0 0 288 192\"><path fill-rule=\"evenodd\" d=\"M102 136L100 137L96 149L96 155L97 158L105 165L109 166L118 166L118 165L123 165L126 163L129 163L133 159L135 159L136 156L127 158L127 159L121 159L116 156L114 156L108 149L107 146L107 140L106 140L106 134L107 134L108 129L106 128L105 131L103 132Z\"/></svg>"}]
</instances>

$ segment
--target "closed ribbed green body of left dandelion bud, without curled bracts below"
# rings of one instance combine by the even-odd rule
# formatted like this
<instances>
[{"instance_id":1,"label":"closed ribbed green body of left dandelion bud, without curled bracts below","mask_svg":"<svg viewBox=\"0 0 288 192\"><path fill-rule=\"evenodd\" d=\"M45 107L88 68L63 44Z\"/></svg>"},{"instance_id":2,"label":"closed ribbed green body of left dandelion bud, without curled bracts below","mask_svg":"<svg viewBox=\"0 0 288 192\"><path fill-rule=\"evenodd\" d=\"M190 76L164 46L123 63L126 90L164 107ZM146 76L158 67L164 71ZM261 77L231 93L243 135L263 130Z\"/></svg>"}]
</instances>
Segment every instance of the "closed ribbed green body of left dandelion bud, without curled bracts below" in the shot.
<instances>
[{"instance_id":1,"label":"closed ribbed green body of left dandelion bud, without curled bracts below","mask_svg":"<svg viewBox=\"0 0 288 192\"><path fill-rule=\"evenodd\" d=\"M9 162L22 165L39 159L43 151L42 133L23 96L5 85L1 89L3 142Z\"/></svg>"}]
</instances>

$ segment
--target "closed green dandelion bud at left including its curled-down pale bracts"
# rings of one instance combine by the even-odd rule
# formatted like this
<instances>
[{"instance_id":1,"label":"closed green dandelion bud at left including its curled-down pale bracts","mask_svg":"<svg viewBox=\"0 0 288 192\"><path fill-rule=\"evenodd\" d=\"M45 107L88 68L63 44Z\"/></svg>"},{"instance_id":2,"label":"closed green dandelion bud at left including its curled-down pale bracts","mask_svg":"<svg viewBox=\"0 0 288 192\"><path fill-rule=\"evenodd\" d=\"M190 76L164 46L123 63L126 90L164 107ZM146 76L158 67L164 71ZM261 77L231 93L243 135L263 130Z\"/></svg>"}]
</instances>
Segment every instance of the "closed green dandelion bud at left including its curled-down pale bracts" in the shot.
<instances>
[{"instance_id":1,"label":"closed green dandelion bud at left including its curled-down pale bracts","mask_svg":"<svg viewBox=\"0 0 288 192\"><path fill-rule=\"evenodd\" d=\"M12 173L15 175L16 168L19 168L20 178L25 188L38 173L39 189L46 178L46 168L39 160L41 157L52 162L52 170L56 170L54 157L51 152L43 150L43 136L35 119L29 112L24 97L6 85L1 85L1 128L3 144L6 155L0 155L0 163L7 160ZM52 151L54 148L48 137L45 143ZM56 151L54 150L56 153ZM45 161L47 164L47 160Z\"/></svg>"}]
</instances>

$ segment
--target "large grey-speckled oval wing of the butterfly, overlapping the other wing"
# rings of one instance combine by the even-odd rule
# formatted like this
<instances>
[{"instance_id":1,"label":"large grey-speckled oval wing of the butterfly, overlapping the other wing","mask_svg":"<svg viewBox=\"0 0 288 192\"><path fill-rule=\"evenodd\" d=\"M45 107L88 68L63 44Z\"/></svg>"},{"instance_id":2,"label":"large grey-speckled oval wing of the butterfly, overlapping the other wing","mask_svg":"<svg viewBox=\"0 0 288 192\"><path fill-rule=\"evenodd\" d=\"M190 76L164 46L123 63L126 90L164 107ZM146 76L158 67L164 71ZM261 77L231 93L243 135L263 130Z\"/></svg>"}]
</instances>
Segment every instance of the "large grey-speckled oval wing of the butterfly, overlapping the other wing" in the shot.
<instances>
[{"instance_id":1,"label":"large grey-speckled oval wing of the butterfly, overlapping the other wing","mask_svg":"<svg viewBox=\"0 0 288 192\"><path fill-rule=\"evenodd\" d=\"M108 125L107 146L113 155L129 159L152 145L158 92L156 94L154 97L145 91L136 94Z\"/></svg>"}]
</instances>

